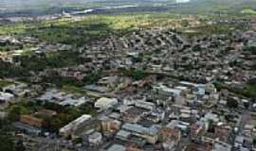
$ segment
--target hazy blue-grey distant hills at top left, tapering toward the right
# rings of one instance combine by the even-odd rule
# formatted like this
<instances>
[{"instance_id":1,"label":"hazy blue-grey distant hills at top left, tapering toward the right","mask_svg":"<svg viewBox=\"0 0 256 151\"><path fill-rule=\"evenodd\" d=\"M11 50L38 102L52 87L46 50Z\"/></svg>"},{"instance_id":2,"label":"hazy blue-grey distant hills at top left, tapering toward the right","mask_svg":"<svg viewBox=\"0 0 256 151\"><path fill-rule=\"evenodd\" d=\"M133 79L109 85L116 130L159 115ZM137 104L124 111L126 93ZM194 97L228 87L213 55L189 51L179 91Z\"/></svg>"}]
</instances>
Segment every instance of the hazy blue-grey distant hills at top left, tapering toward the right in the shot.
<instances>
[{"instance_id":1,"label":"hazy blue-grey distant hills at top left, tapering toward the right","mask_svg":"<svg viewBox=\"0 0 256 151\"><path fill-rule=\"evenodd\" d=\"M155 7L174 4L176 0L0 0L0 15L5 13L41 14L62 9L101 8L123 5ZM184 1L184 0L183 0Z\"/></svg>"}]
</instances>

